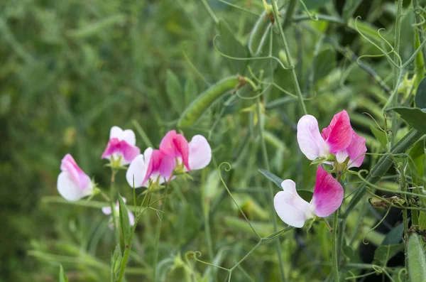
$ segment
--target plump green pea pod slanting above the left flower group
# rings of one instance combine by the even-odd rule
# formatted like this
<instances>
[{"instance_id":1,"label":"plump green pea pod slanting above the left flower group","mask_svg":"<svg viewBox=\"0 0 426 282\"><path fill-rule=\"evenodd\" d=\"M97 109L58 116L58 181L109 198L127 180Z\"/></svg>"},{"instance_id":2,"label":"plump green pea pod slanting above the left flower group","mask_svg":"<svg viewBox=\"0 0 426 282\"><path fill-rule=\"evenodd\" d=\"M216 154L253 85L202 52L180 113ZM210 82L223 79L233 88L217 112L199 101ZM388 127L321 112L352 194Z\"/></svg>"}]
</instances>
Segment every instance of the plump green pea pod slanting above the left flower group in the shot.
<instances>
[{"instance_id":1,"label":"plump green pea pod slanting above the left flower group","mask_svg":"<svg viewBox=\"0 0 426 282\"><path fill-rule=\"evenodd\" d=\"M200 119L202 114L223 94L229 90L233 90L236 86L240 85L241 78L232 76L220 80L215 85L212 85L208 90L202 92L197 99L192 101L185 112L180 116L178 126L191 126L195 121Z\"/></svg>"}]
</instances>

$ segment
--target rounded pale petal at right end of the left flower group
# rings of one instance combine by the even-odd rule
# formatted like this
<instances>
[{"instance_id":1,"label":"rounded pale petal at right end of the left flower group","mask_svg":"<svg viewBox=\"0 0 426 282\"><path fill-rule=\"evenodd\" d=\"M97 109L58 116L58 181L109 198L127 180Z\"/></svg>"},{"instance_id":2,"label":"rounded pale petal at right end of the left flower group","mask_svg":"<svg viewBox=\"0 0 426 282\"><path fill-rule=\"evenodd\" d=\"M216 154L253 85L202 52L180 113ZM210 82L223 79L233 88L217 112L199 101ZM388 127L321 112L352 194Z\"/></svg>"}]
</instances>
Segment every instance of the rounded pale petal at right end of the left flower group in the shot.
<instances>
[{"instance_id":1,"label":"rounded pale petal at right end of the left flower group","mask_svg":"<svg viewBox=\"0 0 426 282\"><path fill-rule=\"evenodd\" d=\"M202 135L192 137L189 146L189 159L191 169L201 169L209 165L212 160L212 148Z\"/></svg>"}]
</instances>

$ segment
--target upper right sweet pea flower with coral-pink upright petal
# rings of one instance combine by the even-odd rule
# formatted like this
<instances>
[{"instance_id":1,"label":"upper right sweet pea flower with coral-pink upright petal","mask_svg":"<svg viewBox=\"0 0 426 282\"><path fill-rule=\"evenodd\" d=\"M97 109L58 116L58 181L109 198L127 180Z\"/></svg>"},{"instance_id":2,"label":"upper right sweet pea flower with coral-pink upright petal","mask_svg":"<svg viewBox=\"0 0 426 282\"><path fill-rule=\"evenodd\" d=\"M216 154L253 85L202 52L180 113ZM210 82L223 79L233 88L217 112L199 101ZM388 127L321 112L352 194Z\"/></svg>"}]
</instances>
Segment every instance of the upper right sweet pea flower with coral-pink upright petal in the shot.
<instances>
[{"instance_id":1,"label":"upper right sweet pea flower with coral-pink upright petal","mask_svg":"<svg viewBox=\"0 0 426 282\"><path fill-rule=\"evenodd\" d=\"M314 116L302 116L297 123L297 142L302 153L311 161L316 158L327 159L331 153L339 163L344 163L349 157L348 168L361 166L367 151L366 139L352 129L345 110L335 114L321 134Z\"/></svg>"}]
</instances>

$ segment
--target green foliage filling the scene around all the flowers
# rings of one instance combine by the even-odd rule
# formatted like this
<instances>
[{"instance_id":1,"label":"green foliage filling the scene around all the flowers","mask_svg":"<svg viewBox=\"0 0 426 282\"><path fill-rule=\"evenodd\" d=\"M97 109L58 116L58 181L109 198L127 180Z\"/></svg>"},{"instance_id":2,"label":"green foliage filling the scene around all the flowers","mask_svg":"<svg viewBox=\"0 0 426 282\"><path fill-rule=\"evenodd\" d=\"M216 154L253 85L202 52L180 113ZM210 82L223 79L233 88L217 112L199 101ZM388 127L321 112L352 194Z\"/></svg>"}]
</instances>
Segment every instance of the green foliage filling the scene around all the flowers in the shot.
<instances>
[{"instance_id":1,"label":"green foliage filling the scene around all the flowers","mask_svg":"<svg viewBox=\"0 0 426 282\"><path fill-rule=\"evenodd\" d=\"M403 219L387 234L376 229L366 236L371 245L381 244L368 254L380 268L364 264L358 250L383 215L371 212L367 191L386 201L403 198L403 206L393 208L417 209L405 223L418 232L426 228L421 50L408 61L422 43L415 13L424 18L423 12L409 1L399 15L391 1L306 0L308 11L300 1L278 1L283 17L271 25L261 1L224 2L1 2L0 281L56 281L58 264L69 281L118 281L121 269L128 282L153 281L154 272L155 282L281 281L281 271L285 281L330 281L333 233L324 222L309 232L284 233L271 206L283 179L294 180L308 202L312 198L315 166L295 138L304 114L300 97L320 129L346 109L368 146L360 168L368 175L363 170L345 179L339 216L344 228L337 232L340 280L361 275L363 268L389 273L394 281L408 281L404 267L412 281L422 273L417 234L407 246L409 265L386 265L398 257L401 239L407 242ZM290 4L297 4L294 13ZM315 15L318 21L311 19ZM279 28L284 21L288 53ZM415 73L415 82L398 92L406 73ZM406 123L394 112L383 116L389 109ZM131 199L133 189L122 170L109 188L110 170L100 160L114 125L135 130L142 152L158 148L170 129L188 140L202 134L212 146L210 165L187 178L179 175L167 191L134 190L136 208L144 212L131 241L133 201L124 205L114 192ZM58 196L65 153L114 205L118 197L121 242L100 210L109 206L105 197L66 202ZM273 237L279 238L275 244ZM66 279L61 266L59 281Z\"/></svg>"}]
</instances>

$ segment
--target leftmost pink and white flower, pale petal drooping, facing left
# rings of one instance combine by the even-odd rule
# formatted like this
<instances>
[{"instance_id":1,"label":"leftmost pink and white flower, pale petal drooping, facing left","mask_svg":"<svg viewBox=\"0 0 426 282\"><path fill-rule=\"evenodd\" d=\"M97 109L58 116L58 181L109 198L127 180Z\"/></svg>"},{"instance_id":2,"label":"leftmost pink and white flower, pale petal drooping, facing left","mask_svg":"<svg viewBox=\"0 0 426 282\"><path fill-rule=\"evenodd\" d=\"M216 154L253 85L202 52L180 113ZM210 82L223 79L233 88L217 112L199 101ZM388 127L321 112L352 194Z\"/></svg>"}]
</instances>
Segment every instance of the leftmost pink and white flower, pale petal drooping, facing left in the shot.
<instances>
[{"instance_id":1,"label":"leftmost pink and white flower, pale petal drooping, facing left","mask_svg":"<svg viewBox=\"0 0 426 282\"><path fill-rule=\"evenodd\" d=\"M68 153L60 164L58 192L65 200L76 201L93 194L93 183Z\"/></svg>"}]
</instances>

